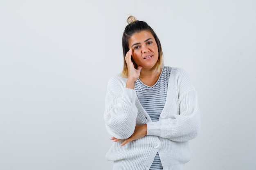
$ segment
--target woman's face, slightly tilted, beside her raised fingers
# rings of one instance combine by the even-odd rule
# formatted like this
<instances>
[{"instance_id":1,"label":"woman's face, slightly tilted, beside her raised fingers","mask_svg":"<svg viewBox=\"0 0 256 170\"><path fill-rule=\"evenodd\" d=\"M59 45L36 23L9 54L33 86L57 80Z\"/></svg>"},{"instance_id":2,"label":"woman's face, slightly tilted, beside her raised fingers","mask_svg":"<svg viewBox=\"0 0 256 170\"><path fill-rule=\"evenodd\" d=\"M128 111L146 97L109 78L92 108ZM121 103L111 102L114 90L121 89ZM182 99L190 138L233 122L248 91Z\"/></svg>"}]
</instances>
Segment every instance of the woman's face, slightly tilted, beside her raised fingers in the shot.
<instances>
[{"instance_id":1,"label":"woman's face, slightly tilted, beside her raised fingers","mask_svg":"<svg viewBox=\"0 0 256 170\"><path fill-rule=\"evenodd\" d=\"M134 33L129 40L132 58L143 70L150 70L158 60L157 42L150 31Z\"/></svg>"}]
</instances>

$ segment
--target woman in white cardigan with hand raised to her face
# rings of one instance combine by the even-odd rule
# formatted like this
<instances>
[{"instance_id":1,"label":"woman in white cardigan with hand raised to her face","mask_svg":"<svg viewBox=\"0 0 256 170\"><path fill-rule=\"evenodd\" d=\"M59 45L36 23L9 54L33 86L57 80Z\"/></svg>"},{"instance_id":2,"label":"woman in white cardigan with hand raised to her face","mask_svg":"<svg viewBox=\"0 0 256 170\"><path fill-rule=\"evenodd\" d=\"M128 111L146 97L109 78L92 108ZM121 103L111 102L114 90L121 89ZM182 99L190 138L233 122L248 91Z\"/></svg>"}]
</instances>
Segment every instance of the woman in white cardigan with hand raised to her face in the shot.
<instances>
[{"instance_id":1,"label":"woman in white cardigan with hand raised to her face","mask_svg":"<svg viewBox=\"0 0 256 170\"><path fill-rule=\"evenodd\" d=\"M113 170L183 170L200 131L195 88L180 68L163 64L159 39L130 16L122 38L124 68L108 82L104 119L113 137Z\"/></svg>"}]
</instances>

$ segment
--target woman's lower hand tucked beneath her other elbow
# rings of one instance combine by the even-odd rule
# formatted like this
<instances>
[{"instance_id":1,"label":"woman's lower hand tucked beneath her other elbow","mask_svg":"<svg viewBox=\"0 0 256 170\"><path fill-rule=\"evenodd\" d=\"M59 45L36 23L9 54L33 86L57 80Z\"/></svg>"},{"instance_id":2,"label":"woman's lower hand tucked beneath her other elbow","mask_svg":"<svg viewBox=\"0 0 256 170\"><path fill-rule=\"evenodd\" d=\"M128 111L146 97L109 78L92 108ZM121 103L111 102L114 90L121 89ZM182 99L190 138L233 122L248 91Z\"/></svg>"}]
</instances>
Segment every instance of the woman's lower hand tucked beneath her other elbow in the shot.
<instances>
[{"instance_id":1,"label":"woman's lower hand tucked beneath her other elbow","mask_svg":"<svg viewBox=\"0 0 256 170\"><path fill-rule=\"evenodd\" d=\"M147 124L143 124L143 125L136 125L135 126L135 130L132 134L132 136L130 136L128 139L126 139L121 146L124 146L125 144L127 144L130 141L139 139L141 137L144 137L145 135L147 135ZM112 137L110 140L117 142L117 141L121 141L124 139L117 139L115 137Z\"/></svg>"}]
</instances>

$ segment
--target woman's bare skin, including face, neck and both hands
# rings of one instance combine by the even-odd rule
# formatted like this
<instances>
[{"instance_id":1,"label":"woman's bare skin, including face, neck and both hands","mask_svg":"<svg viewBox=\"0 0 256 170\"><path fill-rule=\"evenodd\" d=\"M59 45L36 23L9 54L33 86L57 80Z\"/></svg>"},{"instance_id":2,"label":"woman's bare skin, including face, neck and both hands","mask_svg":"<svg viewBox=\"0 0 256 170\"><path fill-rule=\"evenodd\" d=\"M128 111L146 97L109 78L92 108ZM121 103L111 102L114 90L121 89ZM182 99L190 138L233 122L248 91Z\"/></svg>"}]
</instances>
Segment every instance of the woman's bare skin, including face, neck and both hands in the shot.
<instances>
[{"instance_id":1,"label":"woman's bare skin, including face, neck and both hands","mask_svg":"<svg viewBox=\"0 0 256 170\"><path fill-rule=\"evenodd\" d=\"M150 31L141 31L135 33L129 40L130 50L126 53L125 60L128 67L128 79L126 88L134 89L135 82L139 78L144 84L153 86L159 78L160 72L155 72L155 64L157 63L159 53L157 43ZM138 65L134 68L131 57ZM147 132L147 124L136 125L134 133L126 139L121 146L124 146L130 141L144 137ZM111 138L112 141L117 142L123 139Z\"/></svg>"}]
</instances>

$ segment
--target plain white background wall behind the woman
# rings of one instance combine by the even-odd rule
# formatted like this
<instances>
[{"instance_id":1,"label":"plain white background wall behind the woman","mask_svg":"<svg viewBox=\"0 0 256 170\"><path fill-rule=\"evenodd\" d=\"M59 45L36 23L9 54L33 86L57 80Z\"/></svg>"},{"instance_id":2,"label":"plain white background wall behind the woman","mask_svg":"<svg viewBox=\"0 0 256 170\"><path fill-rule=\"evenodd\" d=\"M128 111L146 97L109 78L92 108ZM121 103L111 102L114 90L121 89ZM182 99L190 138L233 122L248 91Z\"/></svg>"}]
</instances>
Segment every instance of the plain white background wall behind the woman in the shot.
<instances>
[{"instance_id":1,"label":"plain white background wall behind the woman","mask_svg":"<svg viewBox=\"0 0 256 170\"><path fill-rule=\"evenodd\" d=\"M2 0L0 170L112 169L104 101L129 14L152 26L165 65L198 91L202 130L186 170L254 169L255 9L255 0Z\"/></svg>"}]
</instances>

